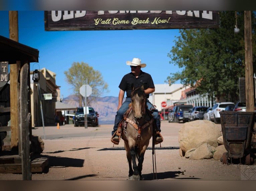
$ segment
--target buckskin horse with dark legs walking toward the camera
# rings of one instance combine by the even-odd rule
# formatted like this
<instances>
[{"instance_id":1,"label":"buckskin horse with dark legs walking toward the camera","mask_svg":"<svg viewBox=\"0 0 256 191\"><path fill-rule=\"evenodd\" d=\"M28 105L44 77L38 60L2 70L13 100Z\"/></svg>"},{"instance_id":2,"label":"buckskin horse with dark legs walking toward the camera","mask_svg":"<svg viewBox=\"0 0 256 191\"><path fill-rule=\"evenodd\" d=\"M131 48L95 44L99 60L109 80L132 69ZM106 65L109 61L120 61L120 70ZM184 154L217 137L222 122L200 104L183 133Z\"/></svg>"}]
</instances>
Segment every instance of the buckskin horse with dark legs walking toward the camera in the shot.
<instances>
[{"instance_id":1,"label":"buckskin horse with dark legs walking toward the camera","mask_svg":"<svg viewBox=\"0 0 256 191\"><path fill-rule=\"evenodd\" d=\"M121 137L129 164L129 180L143 180L144 154L153 135L153 116L147 108L143 86L133 89L129 109L124 114Z\"/></svg>"}]
</instances>

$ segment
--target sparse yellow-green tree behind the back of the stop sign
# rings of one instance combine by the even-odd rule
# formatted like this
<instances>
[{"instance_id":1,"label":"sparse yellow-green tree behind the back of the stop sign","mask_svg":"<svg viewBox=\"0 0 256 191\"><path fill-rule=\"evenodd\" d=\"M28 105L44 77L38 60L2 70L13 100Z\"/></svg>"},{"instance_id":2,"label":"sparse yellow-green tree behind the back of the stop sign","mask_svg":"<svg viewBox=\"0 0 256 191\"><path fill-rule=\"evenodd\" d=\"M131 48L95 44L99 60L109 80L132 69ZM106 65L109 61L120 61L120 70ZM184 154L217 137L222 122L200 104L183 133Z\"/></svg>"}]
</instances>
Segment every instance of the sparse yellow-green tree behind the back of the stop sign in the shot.
<instances>
[{"instance_id":1,"label":"sparse yellow-green tree behind the back of the stop sign","mask_svg":"<svg viewBox=\"0 0 256 191\"><path fill-rule=\"evenodd\" d=\"M94 70L93 67L89 66L87 63L74 62L68 71L64 71L64 74L66 75L66 82L72 85L75 95L77 95L80 100L79 106L82 106L82 100L85 105L85 99L80 95L80 88L84 84L92 88L92 94L87 99L88 105L91 101L95 100L96 97L100 97L108 92L108 84L104 82L101 73Z\"/></svg>"}]
</instances>

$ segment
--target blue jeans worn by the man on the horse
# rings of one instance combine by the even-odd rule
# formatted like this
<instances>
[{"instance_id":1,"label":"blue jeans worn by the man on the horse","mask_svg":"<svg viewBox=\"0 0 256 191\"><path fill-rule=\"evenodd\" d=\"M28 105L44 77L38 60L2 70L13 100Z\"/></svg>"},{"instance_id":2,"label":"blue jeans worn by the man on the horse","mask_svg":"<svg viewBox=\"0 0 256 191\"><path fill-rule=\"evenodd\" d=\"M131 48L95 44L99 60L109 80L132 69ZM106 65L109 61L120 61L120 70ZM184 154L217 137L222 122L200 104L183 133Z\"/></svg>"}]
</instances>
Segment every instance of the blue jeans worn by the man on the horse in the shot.
<instances>
[{"instance_id":1,"label":"blue jeans worn by the man on the horse","mask_svg":"<svg viewBox=\"0 0 256 191\"><path fill-rule=\"evenodd\" d=\"M120 123L120 121L123 118L123 114L125 113L125 111L127 109L129 109L129 103L130 102L131 102L131 98L130 97L126 97L126 99L123 102L122 106L116 112L116 118L115 118L115 124L114 124L113 131L112 131L112 136L116 132L118 124ZM147 99L147 106L148 106L148 109L150 109L151 107L154 108L152 103L150 103L148 99ZM161 129L160 129L160 124L161 123L160 123L160 117L158 115L158 110L157 109L152 109L152 111L153 111L152 114L153 114L154 120L156 122L156 128L157 128L157 130L159 132L161 132Z\"/></svg>"}]
</instances>

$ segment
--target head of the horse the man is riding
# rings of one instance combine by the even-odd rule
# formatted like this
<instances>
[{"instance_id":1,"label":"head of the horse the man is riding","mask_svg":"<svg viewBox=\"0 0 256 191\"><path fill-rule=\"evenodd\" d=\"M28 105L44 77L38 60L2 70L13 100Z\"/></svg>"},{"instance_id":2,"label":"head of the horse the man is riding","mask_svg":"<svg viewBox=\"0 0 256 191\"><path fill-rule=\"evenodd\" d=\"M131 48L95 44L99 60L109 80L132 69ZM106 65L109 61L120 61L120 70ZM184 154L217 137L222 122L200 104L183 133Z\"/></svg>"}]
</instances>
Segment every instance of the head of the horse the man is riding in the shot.
<instances>
[{"instance_id":1,"label":"head of the horse the man is riding","mask_svg":"<svg viewBox=\"0 0 256 191\"><path fill-rule=\"evenodd\" d=\"M132 91L131 95L131 105L132 105L132 111L134 118L139 121L145 113L145 107L146 107L146 97L144 93L143 86L141 88L135 88Z\"/></svg>"}]
</instances>

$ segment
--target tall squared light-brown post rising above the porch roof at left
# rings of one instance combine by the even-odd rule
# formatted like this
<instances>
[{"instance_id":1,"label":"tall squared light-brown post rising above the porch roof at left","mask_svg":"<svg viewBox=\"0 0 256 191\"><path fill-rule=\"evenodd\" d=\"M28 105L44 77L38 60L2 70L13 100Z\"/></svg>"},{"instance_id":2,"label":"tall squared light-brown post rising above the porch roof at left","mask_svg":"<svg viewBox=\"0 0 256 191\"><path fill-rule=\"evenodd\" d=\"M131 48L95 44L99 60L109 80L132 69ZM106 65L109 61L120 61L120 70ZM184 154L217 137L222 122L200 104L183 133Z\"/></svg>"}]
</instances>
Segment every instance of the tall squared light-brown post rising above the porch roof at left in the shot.
<instances>
[{"instance_id":1,"label":"tall squared light-brown post rising above the porch roof at left","mask_svg":"<svg viewBox=\"0 0 256 191\"><path fill-rule=\"evenodd\" d=\"M9 11L9 38L18 42L18 11ZM11 149L20 143L20 102L19 102L19 77L20 61L10 64L10 107L11 107ZM20 144L19 144L19 156Z\"/></svg>"}]
</instances>

